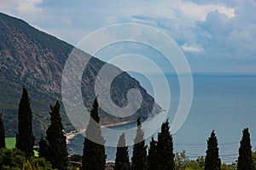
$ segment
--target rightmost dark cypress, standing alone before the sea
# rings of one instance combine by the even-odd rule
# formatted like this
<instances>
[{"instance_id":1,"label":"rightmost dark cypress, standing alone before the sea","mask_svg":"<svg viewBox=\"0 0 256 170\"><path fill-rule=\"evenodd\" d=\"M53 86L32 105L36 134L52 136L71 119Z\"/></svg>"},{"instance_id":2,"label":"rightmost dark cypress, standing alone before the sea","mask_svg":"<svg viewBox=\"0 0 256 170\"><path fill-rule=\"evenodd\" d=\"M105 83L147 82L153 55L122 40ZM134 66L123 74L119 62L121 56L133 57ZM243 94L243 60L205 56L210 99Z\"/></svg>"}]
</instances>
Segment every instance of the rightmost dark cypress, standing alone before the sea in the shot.
<instances>
[{"instance_id":1,"label":"rightmost dark cypress, standing alone before the sea","mask_svg":"<svg viewBox=\"0 0 256 170\"><path fill-rule=\"evenodd\" d=\"M248 128L243 129L239 148L237 170L253 170L253 155L250 133Z\"/></svg>"}]
</instances>

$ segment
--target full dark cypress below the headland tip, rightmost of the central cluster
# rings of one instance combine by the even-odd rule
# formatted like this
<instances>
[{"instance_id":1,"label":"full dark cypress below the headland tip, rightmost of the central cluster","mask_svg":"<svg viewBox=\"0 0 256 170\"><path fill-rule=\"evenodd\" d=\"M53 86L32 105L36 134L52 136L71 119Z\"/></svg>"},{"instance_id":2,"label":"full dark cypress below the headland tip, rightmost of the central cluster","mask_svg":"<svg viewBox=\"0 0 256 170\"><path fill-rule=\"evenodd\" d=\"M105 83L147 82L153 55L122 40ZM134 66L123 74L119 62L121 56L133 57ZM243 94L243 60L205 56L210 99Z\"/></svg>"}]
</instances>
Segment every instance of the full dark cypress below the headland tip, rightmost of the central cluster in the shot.
<instances>
[{"instance_id":1,"label":"full dark cypress below the headland tip, rightmost of the central cluster","mask_svg":"<svg viewBox=\"0 0 256 170\"><path fill-rule=\"evenodd\" d=\"M175 168L172 134L168 120L163 122L161 132L158 133L157 155L158 169L172 170Z\"/></svg>"}]
</instances>

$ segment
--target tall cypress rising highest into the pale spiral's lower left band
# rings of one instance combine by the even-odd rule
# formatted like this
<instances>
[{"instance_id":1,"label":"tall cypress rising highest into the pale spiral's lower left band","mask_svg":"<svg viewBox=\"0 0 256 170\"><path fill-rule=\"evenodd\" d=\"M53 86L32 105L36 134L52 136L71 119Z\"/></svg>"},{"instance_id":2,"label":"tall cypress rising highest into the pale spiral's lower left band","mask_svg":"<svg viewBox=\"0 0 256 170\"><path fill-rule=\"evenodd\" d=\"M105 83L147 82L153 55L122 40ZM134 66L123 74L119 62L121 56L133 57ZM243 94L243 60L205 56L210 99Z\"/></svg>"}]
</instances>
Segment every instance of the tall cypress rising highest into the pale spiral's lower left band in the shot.
<instances>
[{"instance_id":1,"label":"tall cypress rising highest into the pale spiral's lower left band","mask_svg":"<svg viewBox=\"0 0 256 170\"><path fill-rule=\"evenodd\" d=\"M100 125L100 117L98 115L98 101L94 100L92 110L90 111L89 124L85 130L84 150L82 169L84 170L105 170L106 154L105 154L105 140L102 137L102 130ZM90 139L97 141L97 144Z\"/></svg>"}]
</instances>

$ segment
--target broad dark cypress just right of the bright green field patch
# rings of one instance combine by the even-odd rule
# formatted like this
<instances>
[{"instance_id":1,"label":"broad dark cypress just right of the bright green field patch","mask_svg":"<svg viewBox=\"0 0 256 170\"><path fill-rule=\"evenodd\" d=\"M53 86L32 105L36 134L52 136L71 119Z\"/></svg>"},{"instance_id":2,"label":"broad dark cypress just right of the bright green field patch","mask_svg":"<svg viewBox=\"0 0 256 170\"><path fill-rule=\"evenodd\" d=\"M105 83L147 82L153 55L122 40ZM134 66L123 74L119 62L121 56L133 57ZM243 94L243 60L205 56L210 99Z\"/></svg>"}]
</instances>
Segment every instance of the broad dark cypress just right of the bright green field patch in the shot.
<instances>
[{"instance_id":1,"label":"broad dark cypress just right of the bright green field patch","mask_svg":"<svg viewBox=\"0 0 256 170\"><path fill-rule=\"evenodd\" d=\"M56 101L54 106L50 105L50 110L50 125L46 131L46 139L49 145L48 154L45 156L45 159L51 163L53 168L65 170L68 167L68 152L66 137L63 133L64 128L61 122L59 101ZM44 141L42 143L44 145ZM40 152L42 154L43 150Z\"/></svg>"}]
</instances>

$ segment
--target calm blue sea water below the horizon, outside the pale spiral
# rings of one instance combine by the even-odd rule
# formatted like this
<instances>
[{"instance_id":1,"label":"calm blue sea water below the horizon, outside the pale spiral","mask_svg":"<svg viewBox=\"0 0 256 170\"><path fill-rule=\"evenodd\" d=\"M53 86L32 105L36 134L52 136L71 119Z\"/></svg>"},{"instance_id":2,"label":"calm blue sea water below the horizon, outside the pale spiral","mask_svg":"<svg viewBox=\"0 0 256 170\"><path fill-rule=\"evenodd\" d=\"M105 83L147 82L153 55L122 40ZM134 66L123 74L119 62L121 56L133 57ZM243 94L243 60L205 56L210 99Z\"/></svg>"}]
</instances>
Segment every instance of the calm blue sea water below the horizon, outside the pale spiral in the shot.
<instances>
[{"instance_id":1,"label":"calm blue sea water below the horizon, outside the pale spiral","mask_svg":"<svg viewBox=\"0 0 256 170\"><path fill-rule=\"evenodd\" d=\"M153 88L148 80L137 75L148 93ZM154 76L157 80L157 75ZM167 76L171 84L171 110L168 113L172 122L173 113L177 111L179 101L179 86L177 77ZM219 154L223 162L235 161L241 140L241 132L248 127L251 133L253 148L256 147L256 75L195 75L194 99L189 116L177 133L173 134L174 150L186 150L187 155L193 159L205 156L207 138L212 130L218 138ZM165 95L166 92L161 92ZM164 104L165 101L157 101ZM165 108L163 108L165 109ZM113 127L127 129L134 127L135 123ZM145 127L147 128L147 127ZM154 134L156 137L158 132ZM146 140L148 144L149 139ZM68 144L70 154L83 153L84 137L78 135L73 138L73 144ZM132 147L130 147L131 153ZM106 147L108 160L114 160L115 148Z\"/></svg>"}]
</instances>

